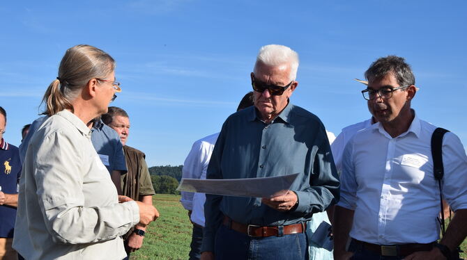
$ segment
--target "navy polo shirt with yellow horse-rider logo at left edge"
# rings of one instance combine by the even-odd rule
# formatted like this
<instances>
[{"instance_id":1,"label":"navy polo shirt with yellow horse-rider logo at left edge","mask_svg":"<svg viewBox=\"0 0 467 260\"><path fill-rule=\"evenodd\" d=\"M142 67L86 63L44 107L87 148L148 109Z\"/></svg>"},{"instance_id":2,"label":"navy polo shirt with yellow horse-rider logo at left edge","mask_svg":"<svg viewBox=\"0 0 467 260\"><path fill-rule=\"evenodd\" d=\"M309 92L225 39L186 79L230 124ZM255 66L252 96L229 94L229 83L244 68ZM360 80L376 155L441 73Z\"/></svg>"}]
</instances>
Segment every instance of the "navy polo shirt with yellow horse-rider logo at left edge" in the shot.
<instances>
[{"instance_id":1,"label":"navy polo shirt with yellow horse-rider logo at left edge","mask_svg":"<svg viewBox=\"0 0 467 260\"><path fill-rule=\"evenodd\" d=\"M0 143L0 163L1 192L17 194L17 184L21 176L20 152L3 138ZM13 238L15 219L15 207L0 205L0 238Z\"/></svg>"}]
</instances>

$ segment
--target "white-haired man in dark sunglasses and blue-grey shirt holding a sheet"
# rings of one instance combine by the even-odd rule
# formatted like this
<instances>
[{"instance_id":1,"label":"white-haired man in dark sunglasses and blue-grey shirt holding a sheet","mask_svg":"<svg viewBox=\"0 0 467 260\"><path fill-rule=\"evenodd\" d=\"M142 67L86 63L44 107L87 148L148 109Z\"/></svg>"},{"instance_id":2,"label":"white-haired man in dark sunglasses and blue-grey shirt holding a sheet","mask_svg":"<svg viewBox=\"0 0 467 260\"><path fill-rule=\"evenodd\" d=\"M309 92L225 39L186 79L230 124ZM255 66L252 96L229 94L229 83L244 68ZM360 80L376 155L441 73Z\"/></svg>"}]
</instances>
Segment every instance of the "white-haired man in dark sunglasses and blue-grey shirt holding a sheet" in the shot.
<instances>
[{"instance_id":1,"label":"white-haired man in dark sunglasses and blue-grey shirt holding a sheet","mask_svg":"<svg viewBox=\"0 0 467 260\"><path fill-rule=\"evenodd\" d=\"M206 195L201 259L307 259L306 222L339 199L326 130L316 115L289 101L298 54L261 47L251 74L254 106L229 116L207 170L208 179L298 173L273 198Z\"/></svg>"}]
</instances>

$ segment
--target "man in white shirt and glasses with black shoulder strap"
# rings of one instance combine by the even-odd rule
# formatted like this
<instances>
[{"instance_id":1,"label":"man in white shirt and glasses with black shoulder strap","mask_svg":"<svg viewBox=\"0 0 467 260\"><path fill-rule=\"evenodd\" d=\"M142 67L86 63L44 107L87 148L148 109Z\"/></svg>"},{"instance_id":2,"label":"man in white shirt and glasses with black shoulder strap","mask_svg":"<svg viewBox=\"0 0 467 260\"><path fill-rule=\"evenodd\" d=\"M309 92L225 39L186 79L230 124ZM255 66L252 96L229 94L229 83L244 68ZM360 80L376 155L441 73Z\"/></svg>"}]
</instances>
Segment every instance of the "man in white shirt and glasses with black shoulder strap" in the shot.
<instances>
[{"instance_id":1,"label":"man in white shirt and glasses with black shoulder strap","mask_svg":"<svg viewBox=\"0 0 467 260\"><path fill-rule=\"evenodd\" d=\"M362 90L378 121L355 133L342 156L335 209L335 259L446 259L467 234L467 156L454 133L443 138L443 197L455 211L439 243L440 190L431 135L411 108L418 88L404 58L378 58ZM349 242L349 248L346 244Z\"/></svg>"}]
</instances>

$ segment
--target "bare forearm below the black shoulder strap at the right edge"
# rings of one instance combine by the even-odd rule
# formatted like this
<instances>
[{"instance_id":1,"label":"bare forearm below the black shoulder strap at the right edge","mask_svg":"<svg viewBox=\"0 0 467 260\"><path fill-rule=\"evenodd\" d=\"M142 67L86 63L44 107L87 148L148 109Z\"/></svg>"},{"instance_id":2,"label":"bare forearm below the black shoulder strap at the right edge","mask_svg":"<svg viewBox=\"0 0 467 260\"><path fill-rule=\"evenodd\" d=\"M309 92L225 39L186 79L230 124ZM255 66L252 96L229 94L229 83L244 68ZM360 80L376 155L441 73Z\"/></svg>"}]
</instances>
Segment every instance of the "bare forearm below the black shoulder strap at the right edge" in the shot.
<instances>
[{"instance_id":1,"label":"bare forearm below the black shoulder strap at the right edge","mask_svg":"<svg viewBox=\"0 0 467 260\"><path fill-rule=\"evenodd\" d=\"M441 239L440 243L449 247L454 251L467 236L467 209L459 209L454 213L449 226L447 226L446 234Z\"/></svg>"}]
</instances>

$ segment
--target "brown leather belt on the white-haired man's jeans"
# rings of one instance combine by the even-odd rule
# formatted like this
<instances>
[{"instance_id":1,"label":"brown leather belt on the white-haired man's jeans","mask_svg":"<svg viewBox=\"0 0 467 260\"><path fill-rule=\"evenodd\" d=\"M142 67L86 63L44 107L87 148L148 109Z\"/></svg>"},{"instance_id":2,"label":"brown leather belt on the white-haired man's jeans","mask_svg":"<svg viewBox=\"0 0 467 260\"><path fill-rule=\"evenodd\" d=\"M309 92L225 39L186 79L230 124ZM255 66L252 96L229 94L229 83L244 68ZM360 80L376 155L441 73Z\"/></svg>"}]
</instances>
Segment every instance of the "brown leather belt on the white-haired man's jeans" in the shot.
<instances>
[{"instance_id":1,"label":"brown leather belt on the white-haired man's jeans","mask_svg":"<svg viewBox=\"0 0 467 260\"><path fill-rule=\"evenodd\" d=\"M252 236L255 238L304 233L307 229L307 224L305 222L285 226L261 227L257 225L245 225L239 222L235 222L227 216L224 216L224 221L222 221L222 224L224 224L226 227L229 227L232 230L243 234L247 234L248 236Z\"/></svg>"}]
</instances>

